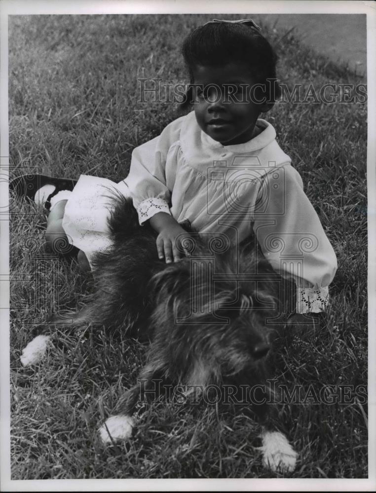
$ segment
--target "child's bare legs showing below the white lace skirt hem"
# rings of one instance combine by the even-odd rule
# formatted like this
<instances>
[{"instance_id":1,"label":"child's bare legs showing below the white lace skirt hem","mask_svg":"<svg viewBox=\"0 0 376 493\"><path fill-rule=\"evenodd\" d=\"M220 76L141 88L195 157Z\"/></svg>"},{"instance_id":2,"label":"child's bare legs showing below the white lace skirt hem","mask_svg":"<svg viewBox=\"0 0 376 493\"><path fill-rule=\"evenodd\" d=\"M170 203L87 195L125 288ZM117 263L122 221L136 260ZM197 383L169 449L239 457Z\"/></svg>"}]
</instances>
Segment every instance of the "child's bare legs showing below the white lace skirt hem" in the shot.
<instances>
[{"instance_id":1,"label":"child's bare legs showing below the white lace skirt hem","mask_svg":"<svg viewBox=\"0 0 376 493\"><path fill-rule=\"evenodd\" d=\"M51 248L51 250L60 255L72 254L75 246L69 245L67 235L62 226L65 206L67 204L67 200L60 200L55 204L55 206L51 209L48 218L47 218L47 228L45 238L47 241L47 245ZM86 255L83 251L78 250L77 255L78 265L83 271L90 271L90 265L86 258Z\"/></svg>"}]
</instances>

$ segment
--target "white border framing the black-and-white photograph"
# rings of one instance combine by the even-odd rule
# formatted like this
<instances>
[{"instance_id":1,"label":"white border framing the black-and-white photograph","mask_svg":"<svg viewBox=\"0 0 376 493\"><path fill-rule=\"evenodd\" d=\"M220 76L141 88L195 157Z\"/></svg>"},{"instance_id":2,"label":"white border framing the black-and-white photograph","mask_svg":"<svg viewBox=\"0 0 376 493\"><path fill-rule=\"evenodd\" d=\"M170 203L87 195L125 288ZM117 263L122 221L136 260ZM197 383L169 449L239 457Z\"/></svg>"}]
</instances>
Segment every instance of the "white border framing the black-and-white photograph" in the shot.
<instances>
[{"instance_id":1,"label":"white border framing the black-and-white photograph","mask_svg":"<svg viewBox=\"0 0 376 493\"><path fill-rule=\"evenodd\" d=\"M376 8L373 1L264 0L1 0L0 1L0 175L8 170L8 15L133 13L367 14L368 82L368 299L369 299L369 479L10 479L9 282L1 282L1 491L374 491L376 489ZM5 170L5 171L4 171ZM0 206L8 204L0 181ZM9 221L0 224L0 280L9 280Z\"/></svg>"}]
</instances>

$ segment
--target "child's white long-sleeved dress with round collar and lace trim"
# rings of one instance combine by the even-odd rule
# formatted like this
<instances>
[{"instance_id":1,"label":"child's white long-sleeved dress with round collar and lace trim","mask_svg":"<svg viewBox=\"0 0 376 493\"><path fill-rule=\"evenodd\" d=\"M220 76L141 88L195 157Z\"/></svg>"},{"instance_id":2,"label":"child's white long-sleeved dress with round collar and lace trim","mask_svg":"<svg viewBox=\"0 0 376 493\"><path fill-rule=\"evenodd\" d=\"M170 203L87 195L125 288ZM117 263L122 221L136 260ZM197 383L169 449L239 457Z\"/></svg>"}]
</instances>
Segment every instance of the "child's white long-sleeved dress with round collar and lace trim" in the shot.
<instances>
[{"instance_id":1,"label":"child's white long-sleeved dress with round collar and lace trim","mask_svg":"<svg viewBox=\"0 0 376 493\"><path fill-rule=\"evenodd\" d=\"M299 173L265 120L254 139L222 145L199 128L194 112L135 148L129 175L119 183L80 176L67 202L63 227L89 261L110 245L111 190L131 196L140 224L165 211L204 234L239 243L254 232L275 272L297 284L297 312L320 312L337 258L303 191Z\"/></svg>"}]
</instances>

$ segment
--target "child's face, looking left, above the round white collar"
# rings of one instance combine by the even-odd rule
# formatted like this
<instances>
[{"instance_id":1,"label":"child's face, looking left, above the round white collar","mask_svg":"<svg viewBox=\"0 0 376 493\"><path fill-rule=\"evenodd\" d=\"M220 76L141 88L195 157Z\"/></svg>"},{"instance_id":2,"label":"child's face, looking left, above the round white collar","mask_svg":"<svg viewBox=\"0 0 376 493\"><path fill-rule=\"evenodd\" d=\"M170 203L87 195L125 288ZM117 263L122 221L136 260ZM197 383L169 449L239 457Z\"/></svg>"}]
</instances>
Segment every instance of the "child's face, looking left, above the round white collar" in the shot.
<instances>
[{"instance_id":1,"label":"child's face, looking left, above the round white collar","mask_svg":"<svg viewBox=\"0 0 376 493\"><path fill-rule=\"evenodd\" d=\"M193 77L196 91L197 85L206 87L203 93L198 90L194 101L196 120L203 132L223 145L250 141L260 113L271 107L255 101L255 97L261 98L258 92L253 94L256 82L250 68L242 62L221 67L199 65Z\"/></svg>"}]
</instances>

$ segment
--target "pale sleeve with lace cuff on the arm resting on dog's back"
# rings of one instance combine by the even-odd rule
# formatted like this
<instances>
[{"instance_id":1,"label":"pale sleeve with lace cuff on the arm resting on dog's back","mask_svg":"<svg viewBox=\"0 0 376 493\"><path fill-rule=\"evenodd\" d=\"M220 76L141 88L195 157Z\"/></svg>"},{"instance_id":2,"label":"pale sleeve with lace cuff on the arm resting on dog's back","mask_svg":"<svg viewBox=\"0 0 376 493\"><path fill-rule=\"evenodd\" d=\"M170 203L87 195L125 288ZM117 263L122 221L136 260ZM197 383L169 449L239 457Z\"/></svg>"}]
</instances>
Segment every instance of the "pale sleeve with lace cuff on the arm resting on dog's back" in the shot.
<instances>
[{"instance_id":1,"label":"pale sleeve with lace cuff on the arm resting on dog's back","mask_svg":"<svg viewBox=\"0 0 376 493\"><path fill-rule=\"evenodd\" d=\"M173 121L155 139L132 152L129 175L125 179L140 224L157 212L170 212L171 192L166 185L166 157L171 145L179 140L182 118Z\"/></svg>"}]
</instances>

